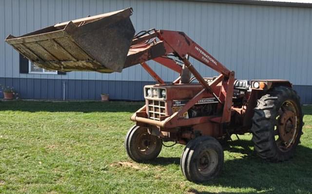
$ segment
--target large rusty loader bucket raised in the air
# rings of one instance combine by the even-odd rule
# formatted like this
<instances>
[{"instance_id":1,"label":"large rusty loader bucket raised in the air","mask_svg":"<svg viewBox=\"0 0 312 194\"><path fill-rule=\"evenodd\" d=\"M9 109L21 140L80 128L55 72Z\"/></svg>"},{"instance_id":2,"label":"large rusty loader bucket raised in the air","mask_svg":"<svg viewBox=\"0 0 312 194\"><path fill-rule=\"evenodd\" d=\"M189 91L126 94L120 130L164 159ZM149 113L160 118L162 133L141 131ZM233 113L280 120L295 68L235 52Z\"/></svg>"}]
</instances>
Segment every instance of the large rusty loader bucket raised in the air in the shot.
<instances>
[{"instance_id":1,"label":"large rusty loader bucket raised in the air","mask_svg":"<svg viewBox=\"0 0 312 194\"><path fill-rule=\"evenodd\" d=\"M135 34L131 15L128 8L9 35L5 41L47 70L121 72Z\"/></svg>"}]
</instances>

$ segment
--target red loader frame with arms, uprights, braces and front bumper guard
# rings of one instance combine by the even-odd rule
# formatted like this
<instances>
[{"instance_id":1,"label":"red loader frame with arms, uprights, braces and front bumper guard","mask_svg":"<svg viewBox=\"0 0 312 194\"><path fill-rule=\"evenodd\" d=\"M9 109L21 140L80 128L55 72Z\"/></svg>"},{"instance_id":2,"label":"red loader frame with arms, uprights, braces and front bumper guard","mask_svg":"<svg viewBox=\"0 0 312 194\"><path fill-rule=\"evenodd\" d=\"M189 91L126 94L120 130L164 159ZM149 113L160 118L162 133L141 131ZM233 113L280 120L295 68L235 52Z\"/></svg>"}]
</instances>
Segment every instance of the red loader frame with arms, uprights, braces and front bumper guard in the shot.
<instances>
[{"instance_id":1,"label":"red loader frame with arms, uprights, braces and front bumper guard","mask_svg":"<svg viewBox=\"0 0 312 194\"><path fill-rule=\"evenodd\" d=\"M231 120L231 107L234 88L234 71L229 71L219 61L217 61L210 53L206 52L191 38L183 32L166 31L166 30L150 30L146 35L135 37L130 47L125 67L133 66L137 63L158 82L159 86L165 85L165 82L153 71L146 61L154 60L157 63L176 71L180 76L172 83L172 85L182 86L181 80L183 68L174 59L167 57L173 54L180 59L185 67L198 80L202 89L189 100L179 111L172 115L160 118L159 121L149 119L146 114L146 105L140 108L131 120L137 122L137 125L154 125L160 131L170 131L176 127L194 126L202 123L214 124L217 130L222 129L223 123L229 123ZM207 81L196 71L195 67L188 60L187 56L191 56L203 63L204 65L219 72L212 82ZM203 116L185 119L183 113L187 112L204 96L214 97L218 101L220 115ZM185 143L181 141L180 143Z\"/></svg>"}]
</instances>

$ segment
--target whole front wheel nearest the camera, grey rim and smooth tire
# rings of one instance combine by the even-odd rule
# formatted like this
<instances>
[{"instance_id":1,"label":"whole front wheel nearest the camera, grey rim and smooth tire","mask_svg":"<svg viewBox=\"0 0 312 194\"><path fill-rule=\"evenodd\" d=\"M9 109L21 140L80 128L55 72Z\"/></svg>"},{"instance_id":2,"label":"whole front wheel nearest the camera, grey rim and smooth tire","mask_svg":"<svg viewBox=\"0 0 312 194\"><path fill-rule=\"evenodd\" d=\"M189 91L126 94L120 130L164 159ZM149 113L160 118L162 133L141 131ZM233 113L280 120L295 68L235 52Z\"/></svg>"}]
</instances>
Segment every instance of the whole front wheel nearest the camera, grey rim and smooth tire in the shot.
<instances>
[{"instance_id":1,"label":"whole front wheel nearest the camera, grey rim and smooth tire","mask_svg":"<svg viewBox=\"0 0 312 194\"><path fill-rule=\"evenodd\" d=\"M219 175L223 149L213 137L201 136L188 142L180 159L183 175L192 182L205 182Z\"/></svg>"}]
</instances>

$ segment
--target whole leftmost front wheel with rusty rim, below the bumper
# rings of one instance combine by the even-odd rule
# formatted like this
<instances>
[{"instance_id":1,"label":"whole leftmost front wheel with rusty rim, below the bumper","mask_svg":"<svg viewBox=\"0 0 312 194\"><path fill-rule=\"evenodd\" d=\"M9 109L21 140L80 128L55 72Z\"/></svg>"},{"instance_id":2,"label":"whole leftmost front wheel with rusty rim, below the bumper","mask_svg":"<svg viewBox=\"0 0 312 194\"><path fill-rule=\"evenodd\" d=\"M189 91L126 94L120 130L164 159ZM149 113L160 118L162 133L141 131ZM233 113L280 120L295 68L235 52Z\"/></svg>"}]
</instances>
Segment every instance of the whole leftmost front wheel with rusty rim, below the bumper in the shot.
<instances>
[{"instance_id":1,"label":"whole leftmost front wheel with rusty rim, below the bumper","mask_svg":"<svg viewBox=\"0 0 312 194\"><path fill-rule=\"evenodd\" d=\"M155 159L162 148L162 141L148 133L146 127L133 126L129 129L124 146L129 158L136 162Z\"/></svg>"}]
</instances>

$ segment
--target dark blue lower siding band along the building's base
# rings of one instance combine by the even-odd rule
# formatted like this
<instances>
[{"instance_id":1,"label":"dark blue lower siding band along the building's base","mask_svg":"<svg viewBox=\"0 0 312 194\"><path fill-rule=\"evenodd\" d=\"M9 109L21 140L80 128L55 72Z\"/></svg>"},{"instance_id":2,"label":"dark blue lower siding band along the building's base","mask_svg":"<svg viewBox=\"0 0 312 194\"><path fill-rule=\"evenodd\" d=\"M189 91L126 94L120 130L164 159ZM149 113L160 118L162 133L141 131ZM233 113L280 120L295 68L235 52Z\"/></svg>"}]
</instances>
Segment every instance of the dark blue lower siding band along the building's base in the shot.
<instances>
[{"instance_id":1,"label":"dark blue lower siding band along the building's base","mask_svg":"<svg viewBox=\"0 0 312 194\"><path fill-rule=\"evenodd\" d=\"M101 93L108 93L112 100L144 100L143 87L155 82L98 81L98 80L51 80L27 78L1 78L0 84L16 88L24 99L100 100ZM117 90L116 90L117 88ZM312 86L294 85L301 103L312 104ZM3 95L0 93L0 98Z\"/></svg>"}]
</instances>

